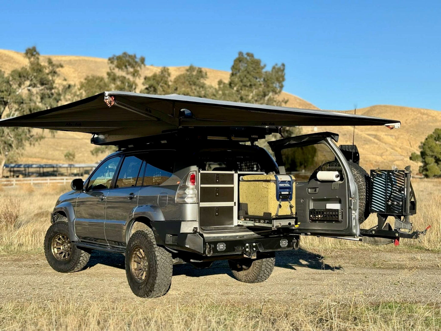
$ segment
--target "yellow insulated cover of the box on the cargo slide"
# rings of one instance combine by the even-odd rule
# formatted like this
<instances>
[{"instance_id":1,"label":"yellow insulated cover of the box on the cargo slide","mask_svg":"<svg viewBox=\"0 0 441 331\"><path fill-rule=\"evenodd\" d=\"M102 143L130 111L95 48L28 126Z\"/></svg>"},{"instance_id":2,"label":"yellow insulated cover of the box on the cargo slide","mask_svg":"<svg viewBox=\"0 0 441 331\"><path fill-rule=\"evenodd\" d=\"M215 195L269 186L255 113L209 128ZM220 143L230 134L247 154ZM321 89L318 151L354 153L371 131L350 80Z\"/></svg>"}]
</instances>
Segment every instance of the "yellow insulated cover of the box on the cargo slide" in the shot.
<instances>
[{"instance_id":1,"label":"yellow insulated cover of the box on the cargo slide","mask_svg":"<svg viewBox=\"0 0 441 331\"><path fill-rule=\"evenodd\" d=\"M294 181L294 177L292 177ZM293 183L295 187L295 184ZM292 201L295 201L295 188L292 192ZM274 175L247 175L243 176L239 183L239 202L247 203L248 214L263 216L263 213L271 213L276 216L279 202L276 197L276 177ZM290 215L289 202L283 201L279 210L279 217ZM292 212L295 214L295 203L292 202Z\"/></svg>"}]
</instances>

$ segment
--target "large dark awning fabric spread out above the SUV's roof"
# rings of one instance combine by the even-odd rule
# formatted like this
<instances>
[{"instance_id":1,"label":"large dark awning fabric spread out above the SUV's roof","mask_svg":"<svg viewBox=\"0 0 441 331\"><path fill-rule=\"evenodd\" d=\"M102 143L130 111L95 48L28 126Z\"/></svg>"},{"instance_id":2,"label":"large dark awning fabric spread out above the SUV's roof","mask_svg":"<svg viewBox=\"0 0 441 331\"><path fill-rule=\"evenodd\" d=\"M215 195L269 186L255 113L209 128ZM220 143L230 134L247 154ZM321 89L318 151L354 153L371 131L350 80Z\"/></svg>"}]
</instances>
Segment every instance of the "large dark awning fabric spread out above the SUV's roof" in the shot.
<instances>
[{"instance_id":1,"label":"large dark awning fabric spread out above the SUV's roof","mask_svg":"<svg viewBox=\"0 0 441 331\"><path fill-rule=\"evenodd\" d=\"M0 120L3 127L87 132L106 141L156 135L183 127L386 125L400 121L326 110L254 105L185 95L109 91L52 109Z\"/></svg>"}]
</instances>

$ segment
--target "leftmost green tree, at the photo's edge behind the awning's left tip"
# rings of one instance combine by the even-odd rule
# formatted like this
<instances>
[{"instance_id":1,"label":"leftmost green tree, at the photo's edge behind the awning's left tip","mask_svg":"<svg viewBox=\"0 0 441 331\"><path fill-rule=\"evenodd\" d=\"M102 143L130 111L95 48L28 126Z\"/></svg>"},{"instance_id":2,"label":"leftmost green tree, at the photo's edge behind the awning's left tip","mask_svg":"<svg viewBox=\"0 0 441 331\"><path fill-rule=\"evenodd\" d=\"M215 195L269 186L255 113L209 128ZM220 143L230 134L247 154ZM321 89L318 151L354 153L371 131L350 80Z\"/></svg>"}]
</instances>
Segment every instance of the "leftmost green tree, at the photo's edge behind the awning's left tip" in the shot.
<instances>
[{"instance_id":1,"label":"leftmost green tree, at the photo's edge behind the awning's left tip","mask_svg":"<svg viewBox=\"0 0 441 331\"><path fill-rule=\"evenodd\" d=\"M69 90L67 85L56 85L60 64L51 59L41 63L35 46L26 49L25 56L26 66L9 75L0 71L0 119L55 107ZM31 128L0 128L0 169L8 158L21 154L26 143L34 144L42 138L41 133Z\"/></svg>"}]
</instances>

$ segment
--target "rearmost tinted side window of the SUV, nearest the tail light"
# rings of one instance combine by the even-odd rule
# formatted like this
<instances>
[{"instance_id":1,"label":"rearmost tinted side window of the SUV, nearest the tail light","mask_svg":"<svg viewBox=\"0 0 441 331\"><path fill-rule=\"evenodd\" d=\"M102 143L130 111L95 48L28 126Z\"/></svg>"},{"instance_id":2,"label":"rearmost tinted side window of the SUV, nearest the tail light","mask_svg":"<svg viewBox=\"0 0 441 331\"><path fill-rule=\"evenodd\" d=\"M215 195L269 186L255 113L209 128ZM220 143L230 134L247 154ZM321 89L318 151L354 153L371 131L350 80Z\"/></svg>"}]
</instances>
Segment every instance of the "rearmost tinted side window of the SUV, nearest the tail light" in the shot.
<instances>
[{"instance_id":1,"label":"rearmost tinted side window of the SUV, nearest the tail light","mask_svg":"<svg viewBox=\"0 0 441 331\"><path fill-rule=\"evenodd\" d=\"M143 186L167 184L166 181L172 177L175 166L174 150L152 150L143 154L144 171L142 180ZM176 184L176 181L175 183Z\"/></svg>"}]
</instances>

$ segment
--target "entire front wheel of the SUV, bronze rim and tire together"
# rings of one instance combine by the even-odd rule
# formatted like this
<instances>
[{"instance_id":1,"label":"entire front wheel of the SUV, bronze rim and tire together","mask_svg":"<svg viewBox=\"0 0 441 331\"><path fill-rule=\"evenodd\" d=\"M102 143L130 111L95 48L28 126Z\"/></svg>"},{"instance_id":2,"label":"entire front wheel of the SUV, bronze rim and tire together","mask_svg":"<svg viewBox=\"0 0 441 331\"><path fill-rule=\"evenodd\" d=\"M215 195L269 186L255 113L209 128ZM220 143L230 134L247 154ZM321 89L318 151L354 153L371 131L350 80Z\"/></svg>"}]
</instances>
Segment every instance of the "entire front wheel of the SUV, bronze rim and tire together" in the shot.
<instances>
[{"instance_id":1,"label":"entire front wheel of the SUV, bronze rim and tire together","mask_svg":"<svg viewBox=\"0 0 441 331\"><path fill-rule=\"evenodd\" d=\"M55 271L79 271L89 262L90 253L83 251L71 243L69 227L67 222L64 221L64 218L49 226L46 232L46 260Z\"/></svg>"}]
</instances>

